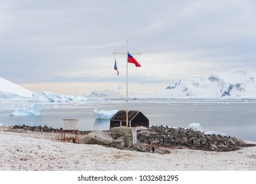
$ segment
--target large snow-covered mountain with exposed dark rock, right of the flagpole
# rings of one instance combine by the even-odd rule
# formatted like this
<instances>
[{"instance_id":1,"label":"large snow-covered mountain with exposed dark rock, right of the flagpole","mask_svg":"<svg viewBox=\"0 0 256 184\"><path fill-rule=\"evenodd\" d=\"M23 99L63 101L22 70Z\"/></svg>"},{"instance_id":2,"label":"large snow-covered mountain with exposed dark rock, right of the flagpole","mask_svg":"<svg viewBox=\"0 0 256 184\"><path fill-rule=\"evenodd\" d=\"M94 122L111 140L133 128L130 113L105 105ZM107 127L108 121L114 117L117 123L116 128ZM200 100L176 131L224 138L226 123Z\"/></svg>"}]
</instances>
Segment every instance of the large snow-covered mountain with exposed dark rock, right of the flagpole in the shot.
<instances>
[{"instance_id":1,"label":"large snow-covered mountain with exposed dark rock, right of the flagpole","mask_svg":"<svg viewBox=\"0 0 256 184\"><path fill-rule=\"evenodd\" d=\"M255 99L256 74L245 70L211 72L209 76L180 80L151 98L163 99Z\"/></svg>"}]
</instances>

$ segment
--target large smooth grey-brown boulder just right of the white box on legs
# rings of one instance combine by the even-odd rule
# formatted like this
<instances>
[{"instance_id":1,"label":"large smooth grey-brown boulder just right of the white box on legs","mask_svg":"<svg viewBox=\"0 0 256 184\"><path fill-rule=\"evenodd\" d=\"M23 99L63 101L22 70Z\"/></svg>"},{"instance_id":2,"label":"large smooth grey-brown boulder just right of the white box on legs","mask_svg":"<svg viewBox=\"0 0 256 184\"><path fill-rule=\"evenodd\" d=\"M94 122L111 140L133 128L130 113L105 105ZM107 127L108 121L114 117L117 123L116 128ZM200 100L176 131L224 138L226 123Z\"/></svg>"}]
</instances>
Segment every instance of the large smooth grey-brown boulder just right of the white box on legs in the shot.
<instances>
[{"instance_id":1,"label":"large smooth grey-brown boulder just right of the white box on legs","mask_svg":"<svg viewBox=\"0 0 256 184\"><path fill-rule=\"evenodd\" d=\"M111 145L113 138L109 132L93 131L79 139L80 144Z\"/></svg>"}]
</instances>

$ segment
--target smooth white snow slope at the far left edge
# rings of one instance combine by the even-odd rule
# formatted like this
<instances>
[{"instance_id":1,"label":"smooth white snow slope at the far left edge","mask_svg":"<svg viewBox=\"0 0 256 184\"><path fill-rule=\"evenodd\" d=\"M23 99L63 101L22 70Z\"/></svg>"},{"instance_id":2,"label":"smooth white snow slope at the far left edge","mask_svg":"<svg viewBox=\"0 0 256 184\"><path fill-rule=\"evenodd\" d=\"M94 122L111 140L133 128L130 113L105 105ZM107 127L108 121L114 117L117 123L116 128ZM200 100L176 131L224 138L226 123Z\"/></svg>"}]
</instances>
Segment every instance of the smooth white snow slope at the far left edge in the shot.
<instances>
[{"instance_id":1,"label":"smooth white snow slope at the far left edge","mask_svg":"<svg viewBox=\"0 0 256 184\"><path fill-rule=\"evenodd\" d=\"M21 99L32 97L34 93L11 81L0 78L0 99Z\"/></svg>"}]
</instances>

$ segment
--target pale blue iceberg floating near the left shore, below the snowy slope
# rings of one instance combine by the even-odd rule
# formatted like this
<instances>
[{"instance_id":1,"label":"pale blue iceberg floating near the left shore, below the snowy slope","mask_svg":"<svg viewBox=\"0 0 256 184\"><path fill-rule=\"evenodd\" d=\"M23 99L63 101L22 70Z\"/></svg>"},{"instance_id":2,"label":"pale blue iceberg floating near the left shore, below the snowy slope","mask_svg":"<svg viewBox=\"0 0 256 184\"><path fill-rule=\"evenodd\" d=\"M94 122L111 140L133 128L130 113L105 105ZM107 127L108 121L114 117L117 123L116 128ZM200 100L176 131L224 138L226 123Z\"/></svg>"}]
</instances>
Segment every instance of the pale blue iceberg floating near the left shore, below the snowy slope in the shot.
<instances>
[{"instance_id":1,"label":"pale blue iceberg floating near the left shore, below the snowy slope","mask_svg":"<svg viewBox=\"0 0 256 184\"><path fill-rule=\"evenodd\" d=\"M16 109L10 116L36 116L41 114L41 104Z\"/></svg>"}]
</instances>

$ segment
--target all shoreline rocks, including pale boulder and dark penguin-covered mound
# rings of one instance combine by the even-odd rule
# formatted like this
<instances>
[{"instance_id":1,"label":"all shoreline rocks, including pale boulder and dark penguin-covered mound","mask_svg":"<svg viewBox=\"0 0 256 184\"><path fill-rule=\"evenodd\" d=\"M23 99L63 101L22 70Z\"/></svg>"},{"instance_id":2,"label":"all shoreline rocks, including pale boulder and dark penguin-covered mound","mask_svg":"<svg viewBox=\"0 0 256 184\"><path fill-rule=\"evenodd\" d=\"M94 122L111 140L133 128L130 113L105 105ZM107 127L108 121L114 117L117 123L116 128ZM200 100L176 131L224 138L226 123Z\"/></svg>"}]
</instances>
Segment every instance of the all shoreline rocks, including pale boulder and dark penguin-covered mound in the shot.
<instances>
[{"instance_id":1,"label":"all shoreline rocks, including pale boulder and dark penguin-covered mound","mask_svg":"<svg viewBox=\"0 0 256 184\"><path fill-rule=\"evenodd\" d=\"M195 125L193 125L195 127ZM146 129L140 127L135 129L137 134L138 145L133 143L133 136L136 136L134 131L127 133L122 131L126 127L117 127L111 131L80 131L80 143L82 144L99 144L110 145L118 149L130 149L147 152L150 147L187 147L197 150L209 150L209 151L232 151L238 150L240 147L255 147L254 143L247 143L236 137L224 136L224 135L205 135L200 131L194 131L193 129L184 129L181 127L173 128L167 126L151 126ZM113 130L113 129L112 129ZM61 129L53 129L52 127L41 126L13 126L9 131L15 131L23 133L27 131L49 131L49 132L61 132ZM88 135L86 135L88 134ZM125 146L124 146L125 142ZM133 147L133 145L135 145Z\"/></svg>"}]
</instances>

